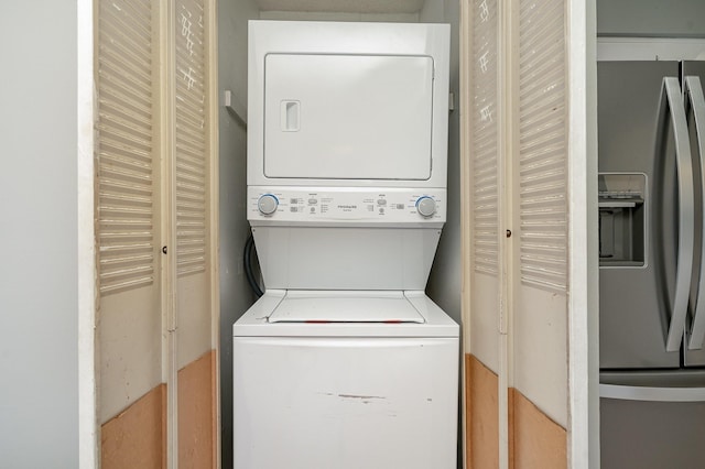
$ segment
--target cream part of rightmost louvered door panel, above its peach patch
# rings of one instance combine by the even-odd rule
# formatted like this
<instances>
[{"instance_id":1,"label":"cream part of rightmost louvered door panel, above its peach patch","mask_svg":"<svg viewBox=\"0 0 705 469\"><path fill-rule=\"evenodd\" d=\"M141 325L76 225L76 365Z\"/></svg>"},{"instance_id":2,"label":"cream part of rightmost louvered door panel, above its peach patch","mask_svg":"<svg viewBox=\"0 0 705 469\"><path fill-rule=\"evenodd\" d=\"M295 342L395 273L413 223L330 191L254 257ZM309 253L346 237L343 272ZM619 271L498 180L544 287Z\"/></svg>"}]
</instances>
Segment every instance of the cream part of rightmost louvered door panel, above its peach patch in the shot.
<instances>
[{"instance_id":1,"label":"cream part of rightmost louvered door panel, above its peach patch","mask_svg":"<svg viewBox=\"0 0 705 469\"><path fill-rule=\"evenodd\" d=\"M520 0L518 6L513 379L517 391L566 428L566 6L564 0Z\"/></svg>"}]
</instances>

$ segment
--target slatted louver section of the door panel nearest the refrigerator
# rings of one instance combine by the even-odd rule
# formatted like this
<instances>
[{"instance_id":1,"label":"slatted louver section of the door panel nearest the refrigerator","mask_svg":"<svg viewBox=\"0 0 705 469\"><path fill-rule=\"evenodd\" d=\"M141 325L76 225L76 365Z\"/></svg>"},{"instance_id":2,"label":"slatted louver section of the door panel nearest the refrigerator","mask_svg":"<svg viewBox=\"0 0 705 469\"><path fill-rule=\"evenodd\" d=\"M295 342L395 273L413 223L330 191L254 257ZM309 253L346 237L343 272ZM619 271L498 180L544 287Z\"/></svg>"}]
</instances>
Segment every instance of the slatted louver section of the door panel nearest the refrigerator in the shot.
<instances>
[{"instance_id":1,"label":"slatted louver section of the door panel nearest the refrigerator","mask_svg":"<svg viewBox=\"0 0 705 469\"><path fill-rule=\"evenodd\" d=\"M523 0L519 50L521 282L567 291L565 13Z\"/></svg>"}]
</instances>

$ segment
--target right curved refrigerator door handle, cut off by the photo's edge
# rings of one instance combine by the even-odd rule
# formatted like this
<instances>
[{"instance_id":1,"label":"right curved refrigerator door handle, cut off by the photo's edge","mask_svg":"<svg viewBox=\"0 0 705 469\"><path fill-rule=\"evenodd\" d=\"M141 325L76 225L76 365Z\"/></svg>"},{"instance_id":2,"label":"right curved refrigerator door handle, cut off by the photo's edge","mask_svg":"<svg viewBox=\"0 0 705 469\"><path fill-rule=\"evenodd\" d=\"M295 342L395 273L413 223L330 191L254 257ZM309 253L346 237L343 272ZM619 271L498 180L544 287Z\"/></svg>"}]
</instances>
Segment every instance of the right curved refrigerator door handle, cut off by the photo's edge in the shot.
<instances>
[{"instance_id":1,"label":"right curved refrigerator door handle, cut off by the photo's edge","mask_svg":"<svg viewBox=\"0 0 705 469\"><path fill-rule=\"evenodd\" d=\"M703 97L703 86L698 76L686 76L683 83L683 94L685 95L686 109L693 110L695 120L695 134L697 137L697 156L701 167L701 184L705 188L705 98ZM705 234L705 216L701 217L703 222L703 233ZM691 340L687 348L691 350L702 349L705 339L705 272L703 271L702 255L705 254L705 236L702 237L702 249L699 266L699 281L697 297L695 301L695 314L691 329Z\"/></svg>"}]
</instances>

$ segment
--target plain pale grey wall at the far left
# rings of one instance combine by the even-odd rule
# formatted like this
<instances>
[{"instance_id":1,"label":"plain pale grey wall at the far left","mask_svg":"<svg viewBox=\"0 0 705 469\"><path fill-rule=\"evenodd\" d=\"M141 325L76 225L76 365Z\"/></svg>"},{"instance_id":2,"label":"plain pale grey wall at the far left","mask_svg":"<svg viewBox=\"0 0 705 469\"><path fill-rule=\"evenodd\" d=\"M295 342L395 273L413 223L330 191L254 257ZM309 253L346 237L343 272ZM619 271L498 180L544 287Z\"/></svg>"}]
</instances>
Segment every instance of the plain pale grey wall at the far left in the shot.
<instances>
[{"instance_id":1,"label":"plain pale grey wall at the far left","mask_svg":"<svg viewBox=\"0 0 705 469\"><path fill-rule=\"evenodd\" d=\"M78 466L76 2L0 20L0 466Z\"/></svg>"}]
</instances>

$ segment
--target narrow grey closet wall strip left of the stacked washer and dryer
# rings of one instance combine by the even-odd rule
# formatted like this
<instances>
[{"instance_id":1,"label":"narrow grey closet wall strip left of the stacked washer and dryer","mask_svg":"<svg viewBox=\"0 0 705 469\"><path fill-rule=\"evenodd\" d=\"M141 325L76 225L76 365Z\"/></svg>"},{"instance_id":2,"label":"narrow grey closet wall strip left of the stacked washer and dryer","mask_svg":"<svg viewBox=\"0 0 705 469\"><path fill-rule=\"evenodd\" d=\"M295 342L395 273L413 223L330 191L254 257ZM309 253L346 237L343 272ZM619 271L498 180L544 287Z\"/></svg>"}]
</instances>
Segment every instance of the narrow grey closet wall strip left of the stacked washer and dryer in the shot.
<instances>
[{"instance_id":1,"label":"narrow grey closet wall strip left of the stacked washer and dryer","mask_svg":"<svg viewBox=\"0 0 705 469\"><path fill-rule=\"evenodd\" d=\"M247 133L223 106L224 91L247 105L247 21L259 18L254 0L218 1L218 92L220 96L220 418L223 467L232 467L232 324L253 302L242 270L250 233L245 212Z\"/></svg>"}]
</instances>

